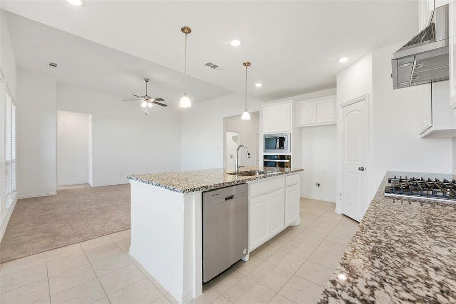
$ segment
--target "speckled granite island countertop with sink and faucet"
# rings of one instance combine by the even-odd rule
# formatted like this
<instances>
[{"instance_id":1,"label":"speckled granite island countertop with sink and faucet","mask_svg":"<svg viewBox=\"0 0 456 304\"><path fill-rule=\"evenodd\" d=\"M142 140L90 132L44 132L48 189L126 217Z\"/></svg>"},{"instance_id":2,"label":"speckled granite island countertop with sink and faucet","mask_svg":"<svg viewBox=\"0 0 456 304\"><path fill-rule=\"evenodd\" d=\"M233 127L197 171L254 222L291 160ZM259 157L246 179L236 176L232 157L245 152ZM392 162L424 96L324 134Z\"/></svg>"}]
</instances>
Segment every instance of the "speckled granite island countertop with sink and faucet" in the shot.
<instances>
[{"instance_id":1,"label":"speckled granite island countertop with sink and faucet","mask_svg":"<svg viewBox=\"0 0 456 304\"><path fill-rule=\"evenodd\" d=\"M229 185L244 183L251 180L273 177L303 171L300 168L275 168L275 167L243 167L239 171L264 170L272 173L258 176L238 176L227 173L234 170L224 168L180 171L168 173L154 173L143 175L130 175L128 179L144 182L153 186L165 188L180 193L205 191Z\"/></svg>"}]
</instances>

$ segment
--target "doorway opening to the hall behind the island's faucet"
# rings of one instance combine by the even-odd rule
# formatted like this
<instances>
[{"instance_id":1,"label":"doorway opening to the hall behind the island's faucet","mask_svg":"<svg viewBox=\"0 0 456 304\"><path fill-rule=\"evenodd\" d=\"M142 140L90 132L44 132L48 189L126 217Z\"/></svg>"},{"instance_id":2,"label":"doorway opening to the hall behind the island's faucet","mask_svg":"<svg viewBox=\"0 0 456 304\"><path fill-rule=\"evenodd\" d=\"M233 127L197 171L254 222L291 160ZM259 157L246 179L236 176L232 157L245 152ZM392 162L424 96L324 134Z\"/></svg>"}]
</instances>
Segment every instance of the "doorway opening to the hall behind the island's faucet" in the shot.
<instances>
[{"instance_id":1,"label":"doorway opening to the hall behind the island's faucet","mask_svg":"<svg viewBox=\"0 0 456 304\"><path fill-rule=\"evenodd\" d=\"M242 120L241 115L224 118L223 166L225 168L234 170L236 149L240 144L244 144L247 147L251 157L247 159L245 151L239 151L239 165L259 165L259 130L259 112L250 113L250 120Z\"/></svg>"}]
</instances>

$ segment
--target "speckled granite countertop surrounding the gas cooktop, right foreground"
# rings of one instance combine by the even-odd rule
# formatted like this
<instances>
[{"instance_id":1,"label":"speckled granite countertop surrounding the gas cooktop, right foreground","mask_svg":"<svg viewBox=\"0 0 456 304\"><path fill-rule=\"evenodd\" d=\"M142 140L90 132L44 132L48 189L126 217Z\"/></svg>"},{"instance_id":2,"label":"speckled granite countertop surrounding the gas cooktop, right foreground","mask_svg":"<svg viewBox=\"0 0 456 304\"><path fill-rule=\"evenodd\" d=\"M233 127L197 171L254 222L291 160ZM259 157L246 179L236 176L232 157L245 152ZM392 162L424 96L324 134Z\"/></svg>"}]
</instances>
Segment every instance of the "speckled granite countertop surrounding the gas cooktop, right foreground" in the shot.
<instances>
[{"instance_id":1,"label":"speckled granite countertop surrounding the gas cooktop, right foreground","mask_svg":"<svg viewBox=\"0 0 456 304\"><path fill-rule=\"evenodd\" d=\"M319 303L456 303L456 203L385 197L394 175L428 176L387 172Z\"/></svg>"}]
</instances>

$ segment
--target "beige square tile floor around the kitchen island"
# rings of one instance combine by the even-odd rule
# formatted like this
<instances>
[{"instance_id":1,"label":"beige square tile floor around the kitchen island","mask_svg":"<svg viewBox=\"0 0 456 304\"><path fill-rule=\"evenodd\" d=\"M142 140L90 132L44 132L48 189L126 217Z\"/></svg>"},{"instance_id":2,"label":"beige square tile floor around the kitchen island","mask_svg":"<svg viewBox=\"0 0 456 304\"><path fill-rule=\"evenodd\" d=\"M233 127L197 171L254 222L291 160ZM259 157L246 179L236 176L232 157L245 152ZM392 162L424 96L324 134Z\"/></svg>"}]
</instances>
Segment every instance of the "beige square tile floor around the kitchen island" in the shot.
<instances>
[{"instance_id":1,"label":"beige square tile floor around the kitchen island","mask_svg":"<svg viewBox=\"0 0 456 304\"><path fill-rule=\"evenodd\" d=\"M203 286L194 303L314 303L357 231L334 203L301 199L289 227ZM0 302L170 303L175 300L128 254L130 231L0 265Z\"/></svg>"}]
</instances>

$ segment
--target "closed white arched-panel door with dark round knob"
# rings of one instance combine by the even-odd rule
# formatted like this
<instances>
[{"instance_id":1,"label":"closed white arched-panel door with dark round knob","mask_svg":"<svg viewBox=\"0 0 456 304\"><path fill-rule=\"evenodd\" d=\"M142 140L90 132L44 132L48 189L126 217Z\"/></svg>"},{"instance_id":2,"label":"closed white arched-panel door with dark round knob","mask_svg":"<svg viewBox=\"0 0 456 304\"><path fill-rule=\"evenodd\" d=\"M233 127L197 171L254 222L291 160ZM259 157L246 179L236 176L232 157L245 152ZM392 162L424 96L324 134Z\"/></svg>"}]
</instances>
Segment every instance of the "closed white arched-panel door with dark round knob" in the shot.
<instances>
[{"instance_id":1,"label":"closed white arched-panel door with dark round knob","mask_svg":"<svg viewBox=\"0 0 456 304\"><path fill-rule=\"evenodd\" d=\"M362 97L341 112L341 211L361 221L367 206L368 100Z\"/></svg>"}]
</instances>

